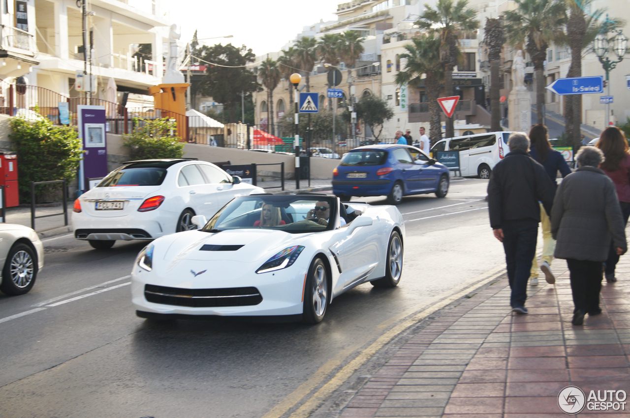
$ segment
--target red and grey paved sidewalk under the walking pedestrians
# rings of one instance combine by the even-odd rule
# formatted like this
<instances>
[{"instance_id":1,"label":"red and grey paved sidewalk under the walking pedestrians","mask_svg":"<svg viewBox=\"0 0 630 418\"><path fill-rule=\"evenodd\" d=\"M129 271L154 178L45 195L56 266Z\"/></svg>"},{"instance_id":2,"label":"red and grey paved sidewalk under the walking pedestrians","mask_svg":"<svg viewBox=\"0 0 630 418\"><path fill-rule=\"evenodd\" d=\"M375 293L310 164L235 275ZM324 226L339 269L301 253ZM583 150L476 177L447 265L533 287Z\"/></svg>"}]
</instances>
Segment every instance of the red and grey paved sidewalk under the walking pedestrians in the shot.
<instances>
[{"instance_id":1,"label":"red and grey paved sidewalk under the walking pedestrians","mask_svg":"<svg viewBox=\"0 0 630 418\"><path fill-rule=\"evenodd\" d=\"M571 325L566 262L555 260L553 271L555 285L528 286L529 315L512 314L505 276L447 310L404 344L340 416L563 417L558 393L568 385L587 397L590 390L630 393L630 261L617 265L617 283L604 280L604 312L587 315L580 327ZM627 417L627 402L626 410L576 416Z\"/></svg>"}]
</instances>

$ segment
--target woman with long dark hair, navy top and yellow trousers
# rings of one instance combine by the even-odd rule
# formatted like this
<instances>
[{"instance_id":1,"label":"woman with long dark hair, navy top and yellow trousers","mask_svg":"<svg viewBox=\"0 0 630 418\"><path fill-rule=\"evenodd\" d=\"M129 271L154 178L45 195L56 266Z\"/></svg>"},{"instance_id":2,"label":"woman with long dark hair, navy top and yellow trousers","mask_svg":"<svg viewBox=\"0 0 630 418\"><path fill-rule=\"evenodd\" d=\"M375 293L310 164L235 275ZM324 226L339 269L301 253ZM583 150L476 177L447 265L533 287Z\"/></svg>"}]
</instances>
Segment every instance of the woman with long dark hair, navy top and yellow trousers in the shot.
<instances>
[{"instance_id":1,"label":"woman with long dark hair, navy top and yellow trousers","mask_svg":"<svg viewBox=\"0 0 630 418\"><path fill-rule=\"evenodd\" d=\"M545 171L553 181L553 184L556 183L556 178L558 177L558 171L564 177L571 174L571 169L564 161L563 155L559 152L551 148L551 144L549 143L549 130L545 125L539 123L538 125L534 125L532 129L529 131L529 140L531 141L531 145L529 148L529 155L532 156L537 162L540 162L544 167ZM542 261L541 261L541 271L545 274L545 280L549 284L553 284L556 282L556 278L551 272L551 262L553 261L553 252L556 248L556 240L551 236L551 222L549 217L547 216L547 212L545 212L541 203L541 229L542 229ZM532 261L532 269L529 274L529 284L530 286L538 285L538 263L536 260L536 256L534 256L534 261Z\"/></svg>"}]
</instances>

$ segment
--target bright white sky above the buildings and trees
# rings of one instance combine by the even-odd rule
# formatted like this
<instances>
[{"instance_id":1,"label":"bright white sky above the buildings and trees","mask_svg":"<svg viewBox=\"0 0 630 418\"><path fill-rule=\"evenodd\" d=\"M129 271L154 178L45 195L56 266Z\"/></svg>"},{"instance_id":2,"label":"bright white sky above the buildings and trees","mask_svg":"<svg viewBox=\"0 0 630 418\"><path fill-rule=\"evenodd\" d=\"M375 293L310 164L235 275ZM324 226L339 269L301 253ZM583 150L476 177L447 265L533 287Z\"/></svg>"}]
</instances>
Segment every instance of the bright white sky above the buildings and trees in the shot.
<instances>
[{"instance_id":1,"label":"bright white sky above the buildings and trees","mask_svg":"<svg viewBox=\"0 0 630 418\"><path fill-rule=\"evenodd\" d=\"M295 38L303 26L336 20L337 4L349 0L278 1L278 0L162 0L162 8L170 14L171 23L181 31L180 44L197 38L222 37L200 41L206 45L232 43L252 48L254 54L280 50ZM288 6L292 7L289 10Z\"/></svg>"}]
</instances>

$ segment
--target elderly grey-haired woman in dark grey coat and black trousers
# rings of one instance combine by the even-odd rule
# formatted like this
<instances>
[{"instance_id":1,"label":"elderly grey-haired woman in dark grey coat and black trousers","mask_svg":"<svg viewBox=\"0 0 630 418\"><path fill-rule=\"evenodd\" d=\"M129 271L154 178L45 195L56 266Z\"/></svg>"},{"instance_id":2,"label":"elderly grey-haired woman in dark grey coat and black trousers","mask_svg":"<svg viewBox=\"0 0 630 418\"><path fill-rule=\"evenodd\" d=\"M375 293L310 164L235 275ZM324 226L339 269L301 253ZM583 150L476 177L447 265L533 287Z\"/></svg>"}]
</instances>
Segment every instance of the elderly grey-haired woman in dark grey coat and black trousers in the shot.
<instances>
[{"instance_id":1,"label":"elderly grey-haired woman in dark grey coat and black trousers","mask_svg":"<svg viewBox=\"0 0 630 418\"><path fill-rule=\"evenodd\" d=\"M578 169L566 176L551 210L551 234L556 239L556 258L566 259L573 292L573 325L582 325L584 315L602 313L602 262L610 241L617 254L626 252L626 232L615 185L597 168L604 154L595 147L582 147Z\"/></svg>"}]
</instances>

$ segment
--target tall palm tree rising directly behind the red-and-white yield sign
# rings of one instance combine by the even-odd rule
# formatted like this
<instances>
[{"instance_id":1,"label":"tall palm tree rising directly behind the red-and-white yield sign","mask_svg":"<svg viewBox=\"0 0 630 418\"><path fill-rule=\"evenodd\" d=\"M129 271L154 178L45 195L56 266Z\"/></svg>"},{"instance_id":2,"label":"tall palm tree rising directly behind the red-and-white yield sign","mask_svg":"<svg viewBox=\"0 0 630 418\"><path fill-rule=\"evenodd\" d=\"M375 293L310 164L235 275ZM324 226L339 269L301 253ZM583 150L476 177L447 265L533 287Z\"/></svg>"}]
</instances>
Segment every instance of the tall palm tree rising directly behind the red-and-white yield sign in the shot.
<instances>
[{"instance_id":1,"label":"tall palm tree rising directly behind the red-and-white yield sign","mask_svg":"<svg viewBox=\"0 0 630 418\"><path fill-rule=\"evenodd\" d=\"M438 0L435 9L425 4L425 11L416 21L421 29L436 33L440 39L440 60L444 65L444 89L447 96L453 94L453 69L457 65L457 57L461 55L457 36L479 28L477 12L467 6L467 0L457 0L457 3L454 0ZM453 118L447 118L446 137L454 136Z\"/></svg>"}]
</instances>

